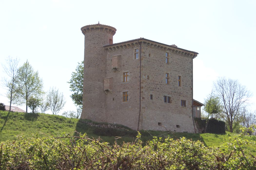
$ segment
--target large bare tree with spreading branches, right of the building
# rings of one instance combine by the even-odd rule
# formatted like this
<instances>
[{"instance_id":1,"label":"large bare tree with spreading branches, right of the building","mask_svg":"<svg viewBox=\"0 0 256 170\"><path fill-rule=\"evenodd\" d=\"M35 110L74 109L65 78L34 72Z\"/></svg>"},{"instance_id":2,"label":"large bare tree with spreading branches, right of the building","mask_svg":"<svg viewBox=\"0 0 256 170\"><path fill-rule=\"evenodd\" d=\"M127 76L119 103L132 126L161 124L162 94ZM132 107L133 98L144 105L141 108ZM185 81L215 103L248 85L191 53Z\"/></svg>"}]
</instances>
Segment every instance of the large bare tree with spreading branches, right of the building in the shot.
<instances>
[{"instance_id":1,"label":"large bare tree with spreading branches, right of the building","mask_svg":"<svg viewBox=\"0 0 256 170\"><path fill-rule=\"evenodd\" d=\"M220 77L214 83L215 93L221 100L222 114L220 116L227 122L230 132L241 121L242 110L249 104L251 93L237 80Z\"/></svg>"}]
</instances>

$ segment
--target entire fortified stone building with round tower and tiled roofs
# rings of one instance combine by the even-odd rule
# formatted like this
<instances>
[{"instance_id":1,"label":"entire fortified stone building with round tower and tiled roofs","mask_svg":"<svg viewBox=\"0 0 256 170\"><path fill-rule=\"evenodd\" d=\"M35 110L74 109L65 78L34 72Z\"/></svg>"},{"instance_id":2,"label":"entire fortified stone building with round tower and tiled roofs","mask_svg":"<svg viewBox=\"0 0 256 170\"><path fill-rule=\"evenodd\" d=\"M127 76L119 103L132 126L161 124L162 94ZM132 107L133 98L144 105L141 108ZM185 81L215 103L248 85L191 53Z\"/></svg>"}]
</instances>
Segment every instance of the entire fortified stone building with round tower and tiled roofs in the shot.
<instances>
[{"instance_id":1,"label":"entire fortified stone building with round tower and tiled roofs","mask_svg":"<svg viewBox=\"0 0 256 170\"><path fill-rule=\"evenodd\" d=\"M84 34L81 118L134 130L195 133L193 59L197 52L145 38L113 44L114 27Z\"/></svg>"}]
</instances>

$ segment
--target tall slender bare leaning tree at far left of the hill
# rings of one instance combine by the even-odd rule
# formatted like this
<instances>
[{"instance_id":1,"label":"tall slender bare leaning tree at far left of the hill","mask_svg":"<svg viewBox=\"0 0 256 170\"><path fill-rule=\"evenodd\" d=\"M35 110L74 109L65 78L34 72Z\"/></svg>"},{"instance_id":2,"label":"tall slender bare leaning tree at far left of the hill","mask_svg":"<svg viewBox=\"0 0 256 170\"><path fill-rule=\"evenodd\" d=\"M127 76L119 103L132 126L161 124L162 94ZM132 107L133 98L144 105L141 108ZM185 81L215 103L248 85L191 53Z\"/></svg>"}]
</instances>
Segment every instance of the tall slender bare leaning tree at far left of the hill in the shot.
<instances>
[{"instance_id":1,"label":"tall slender bare leaning tree at far left of the hill","mask_svg":"<svg viewBox=\"0 0 256 170\"><path fill-rule=\"evenodd\" d=\"M8 57L6 59L6 65L3 65L4 72L9 77L8 79L4 79L4 86L7 87L8 92L6 93L6 97L10 100L9 111L11 111L12 101L17 98L17 90L16 86L16 78L18 72L18 63L19 59Z\"/></svg>"}]
</instances>

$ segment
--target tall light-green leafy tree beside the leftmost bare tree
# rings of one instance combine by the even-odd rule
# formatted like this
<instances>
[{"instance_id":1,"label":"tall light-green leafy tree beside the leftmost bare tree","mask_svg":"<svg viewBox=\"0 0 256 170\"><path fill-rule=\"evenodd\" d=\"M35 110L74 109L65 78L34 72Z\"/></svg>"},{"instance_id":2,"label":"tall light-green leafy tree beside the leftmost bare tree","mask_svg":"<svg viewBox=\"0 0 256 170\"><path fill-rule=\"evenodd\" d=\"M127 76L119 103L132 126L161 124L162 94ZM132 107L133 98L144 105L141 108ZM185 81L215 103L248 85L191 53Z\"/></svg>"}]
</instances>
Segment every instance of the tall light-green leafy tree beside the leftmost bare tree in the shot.
<instances>
[{"instance_id":1,"label":"tall light-green leafy tree beside the leftmost bare tree","mask_svg":"<svg viewBox=\"0 0 256 170\"><path fill-rule=\"evenodd\" d=\"M42 79L40 79L38 71L34 72L28 60L18 69L17 86L18 102L26 103L26 112L28 112L29 97L40 96L44 93Z\"/></svg>"}]
</instances>

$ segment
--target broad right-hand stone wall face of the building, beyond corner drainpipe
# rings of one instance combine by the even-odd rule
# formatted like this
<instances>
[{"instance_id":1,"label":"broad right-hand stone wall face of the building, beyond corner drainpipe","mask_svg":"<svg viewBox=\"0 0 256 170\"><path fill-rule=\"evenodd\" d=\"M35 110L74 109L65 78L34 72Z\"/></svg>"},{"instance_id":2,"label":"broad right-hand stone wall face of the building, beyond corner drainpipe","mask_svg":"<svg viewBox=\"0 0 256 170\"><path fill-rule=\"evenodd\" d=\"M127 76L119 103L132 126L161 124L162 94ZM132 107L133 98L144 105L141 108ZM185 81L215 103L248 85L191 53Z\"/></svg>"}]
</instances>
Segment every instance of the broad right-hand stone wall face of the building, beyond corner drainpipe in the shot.
<instances>
[{"instance_id":1,"label":"broad right-hand stone wall face of the building, beyond corner drainpipe","mask_svg":"<svg viewBox=\"0 0 256 170\"><path fill-rule=\"evenodd\" d=\"M165 63L166 52L169 63ZM165 73L169 73L169 84L165 83ZM178 86L178 76L182 78L181 87ZM192 77L192 57L143 43L140 129L195 133ZM170 97L170 103L164 102L164 96ZM181 100L186 100L186 107L181 107Z\"/></svg>"}]
</instances>

